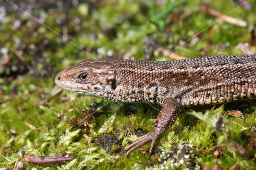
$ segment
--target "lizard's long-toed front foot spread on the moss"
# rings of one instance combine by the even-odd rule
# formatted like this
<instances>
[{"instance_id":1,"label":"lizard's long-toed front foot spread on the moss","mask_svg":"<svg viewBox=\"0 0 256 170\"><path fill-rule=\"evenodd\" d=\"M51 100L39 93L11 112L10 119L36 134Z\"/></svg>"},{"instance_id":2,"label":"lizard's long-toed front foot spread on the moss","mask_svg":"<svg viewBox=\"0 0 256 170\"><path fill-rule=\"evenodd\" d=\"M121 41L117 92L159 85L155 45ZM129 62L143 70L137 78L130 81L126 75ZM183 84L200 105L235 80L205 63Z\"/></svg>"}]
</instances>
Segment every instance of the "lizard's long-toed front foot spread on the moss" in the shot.
<instances>
[{"instance_id":1,"label":"lizard's long-toed front foot spread on the moss","mask_svg":"<svg viewBox=\"0 0 256 170\"><path fill-rule=\"evenodd\" d=\"M143 136L140 136L136 139L134 139L134 141L132 142L132 144L130 144L129 146L126 147L126 155L129 156L130 153L132 151L134 151L135 149L137 149L138 147L144 145L146 142L151 141L151 146L149 149L149 154L152 153L152 150L154 148L154 144L156 142L156 139L158 138L158 136L160 136L160 132L158 132L157 130L152 130L151 132L144 134Z\"/></svg>"}]
</instances>

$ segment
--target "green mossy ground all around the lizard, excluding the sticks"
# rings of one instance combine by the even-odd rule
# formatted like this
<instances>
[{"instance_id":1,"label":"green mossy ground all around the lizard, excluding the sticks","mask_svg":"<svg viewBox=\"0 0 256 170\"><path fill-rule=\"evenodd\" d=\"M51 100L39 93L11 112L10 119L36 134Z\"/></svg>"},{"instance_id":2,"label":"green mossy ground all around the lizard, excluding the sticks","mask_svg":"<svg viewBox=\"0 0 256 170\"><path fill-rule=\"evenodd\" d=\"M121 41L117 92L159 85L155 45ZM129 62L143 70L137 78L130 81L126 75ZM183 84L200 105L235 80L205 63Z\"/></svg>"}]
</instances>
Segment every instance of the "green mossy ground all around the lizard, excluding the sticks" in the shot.
<instances>
[{"instance_id":1,"label":"green mossy ground all around the lizard, excluding the sticks","mask_svg":"<svg viewBox=\"0 0 256 170\"><path fill-rule=\"evenodd\" d=\"M238 104L210 107L204 115L180 111L152 155L147 153L148 143L127 158L124 148L152 130L158 114L154 107L160 107L56 93L54 84L58 71L93 57L170 60L154 52L145 38L169 50L178 47L174 52L182 57L244 54L236 49L240 42L256 52L255 0L239 8L241 1L204 1L222 14L237 8L229 16L243 20L246 27L216 22L199 0L11 2L77 47L0 0L0 167L14 168L20 150L38 156L65 151L76 156L65 163L28 164L28 169L256 167L255 104L239 105L242 115L234 116L223 109Z\"/></svg>"}]
</instances>

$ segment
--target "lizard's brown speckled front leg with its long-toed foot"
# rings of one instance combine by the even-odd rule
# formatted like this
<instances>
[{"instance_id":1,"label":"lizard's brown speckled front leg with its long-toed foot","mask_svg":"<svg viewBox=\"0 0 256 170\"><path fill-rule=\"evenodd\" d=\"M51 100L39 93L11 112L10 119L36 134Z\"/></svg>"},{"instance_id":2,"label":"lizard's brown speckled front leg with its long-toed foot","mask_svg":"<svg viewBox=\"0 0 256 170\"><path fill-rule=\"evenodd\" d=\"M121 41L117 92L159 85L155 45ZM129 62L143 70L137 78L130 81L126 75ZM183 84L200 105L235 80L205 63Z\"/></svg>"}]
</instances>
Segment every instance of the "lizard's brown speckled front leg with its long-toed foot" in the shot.
<instances>
[{"instance_id":1,"label":"lizard's brown speckled front leg with its long-toed foot","mask_svg":"<svg viewBox=\"0 0 256 170\"><path fill-rule=\"evenodd\" d=\"M156 122L154 124L154 128L148 134L140 136L139 138L134 139L132 144L130 144L126 150L126 155L129 156L132 151L136 148L144 145L146 142L151 141L151 146L149 149L149 153L152 153L154 148L154 144L156 139L168 128L172 126L172 124L176 121L177 114L179 110L178 102L172 97L166 97L162 104L162 110L156 118Z\"/></svg>"}]
</instances>

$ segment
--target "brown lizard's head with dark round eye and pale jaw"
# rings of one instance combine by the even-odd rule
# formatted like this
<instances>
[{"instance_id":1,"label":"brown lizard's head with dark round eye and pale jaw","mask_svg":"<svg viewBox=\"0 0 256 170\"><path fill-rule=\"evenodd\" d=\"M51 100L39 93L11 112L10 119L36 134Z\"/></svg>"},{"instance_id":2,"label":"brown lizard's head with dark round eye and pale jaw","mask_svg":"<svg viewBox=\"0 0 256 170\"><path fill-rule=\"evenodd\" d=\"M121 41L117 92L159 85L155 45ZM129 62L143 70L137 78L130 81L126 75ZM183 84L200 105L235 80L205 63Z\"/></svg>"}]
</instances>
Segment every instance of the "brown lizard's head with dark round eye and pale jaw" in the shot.
<instances>
[{"instance_id":1,"label":"brown lizard's head with dark round eye and pale jaw","mask_svg":"<svg viewBox=\"0 0 256 170\"><path fill-rule=\"evenodd\" d=\"M62 89L108 99L116 88L113 61L85 60L58 73L55 83Z\"/></svg>"}]
</instances>

